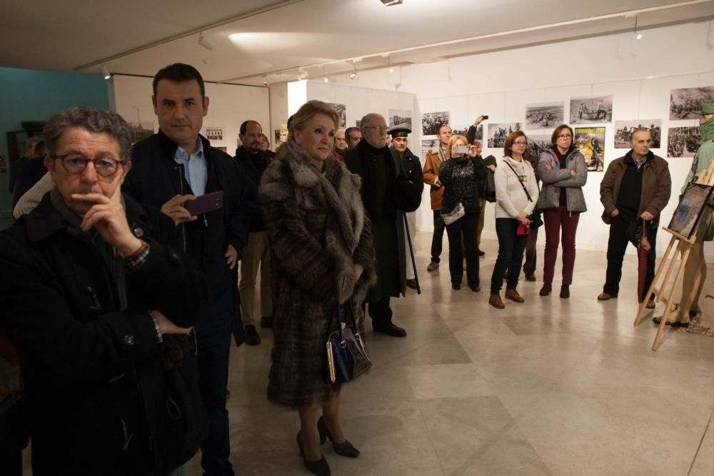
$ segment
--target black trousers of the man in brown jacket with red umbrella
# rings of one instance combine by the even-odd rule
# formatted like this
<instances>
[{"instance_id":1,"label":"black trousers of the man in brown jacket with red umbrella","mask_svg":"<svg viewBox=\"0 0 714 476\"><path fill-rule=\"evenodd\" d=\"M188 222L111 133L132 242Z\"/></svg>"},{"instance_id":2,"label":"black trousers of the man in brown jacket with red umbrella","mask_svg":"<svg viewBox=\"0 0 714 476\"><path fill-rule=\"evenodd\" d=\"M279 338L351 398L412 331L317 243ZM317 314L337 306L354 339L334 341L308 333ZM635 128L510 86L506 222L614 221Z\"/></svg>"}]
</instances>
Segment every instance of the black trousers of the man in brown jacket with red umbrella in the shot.
<instances>
[{"instance_id":1,"label":"black trousers of the man in brown jacket with red umbrella","mask_svg":"<svg viewBox=\"0 0 714 476\"><path fill-rule=\"evenodd\" d=\"M630 241L627 239L626 232L630 226L630 221L620 213L618 216L613 216L610 221L610 238L608 239L608 271L605 275L605 285L603 292L608 294L620 293L620 278L623 275L623 258L625 258L625 250ZM647 255L647 272L645 273L645 286L642 290L642 295L638 296L640 303L645 299L647 291L655 279L655 261L657 253L657 227L648 226L647 239L652 245L650 253ZM654 294L652 295L654 298Z\"/></svg>"}]
</instances>

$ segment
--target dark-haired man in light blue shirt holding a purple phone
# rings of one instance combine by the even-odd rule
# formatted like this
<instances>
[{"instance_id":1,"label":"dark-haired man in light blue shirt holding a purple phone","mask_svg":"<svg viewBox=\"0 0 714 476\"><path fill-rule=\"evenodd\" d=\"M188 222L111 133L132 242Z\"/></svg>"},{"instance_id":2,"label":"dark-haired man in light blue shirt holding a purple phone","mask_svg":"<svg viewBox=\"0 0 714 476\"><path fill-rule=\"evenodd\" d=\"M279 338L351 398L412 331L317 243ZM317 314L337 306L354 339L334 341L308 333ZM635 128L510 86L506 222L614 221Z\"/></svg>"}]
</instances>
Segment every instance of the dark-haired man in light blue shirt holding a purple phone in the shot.
<instances>
[{"instance_id":1,"label":"dark-haired man in light blue shirt holding a purple phone","mask_svg":"<svg viewBox=\"0 0 714 476\"><path fill-rule=\"evenodd\" d=\"M196 338L199 388L211 431L201 445L201 465L208 475L233 475L226 385L236 297L233 268L247 240L243 183L231 156L198 134L208 97L193 66L171 64L156 73L152 100L159 133L132 148L134 168L124 191L173 218L176 245L206 273L211 306L196 326ZM223 192L222 208L192 216L184 207L216 191Z\"/></svg>"}]
</instances>

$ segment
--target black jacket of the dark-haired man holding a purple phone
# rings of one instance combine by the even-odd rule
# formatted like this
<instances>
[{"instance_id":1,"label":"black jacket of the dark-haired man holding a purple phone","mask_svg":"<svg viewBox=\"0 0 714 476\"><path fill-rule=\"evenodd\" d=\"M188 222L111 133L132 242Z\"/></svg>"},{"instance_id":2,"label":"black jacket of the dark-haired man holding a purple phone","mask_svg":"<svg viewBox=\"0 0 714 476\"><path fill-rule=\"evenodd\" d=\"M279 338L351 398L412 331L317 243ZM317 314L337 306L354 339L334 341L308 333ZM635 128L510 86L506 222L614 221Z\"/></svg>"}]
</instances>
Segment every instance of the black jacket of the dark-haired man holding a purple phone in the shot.
<instances>
[{"instance_id":1,"label":"black jacket of the dark-haired man holding a purple phone","mask_svg":"<svg viewBox=\"0 0 714 476\"><path fill-rule=\"evenodd\" d=\"M231 244L240 254L248 243L250 212L236 161L199 137L208 162L206 193L222 190L223 208L205 213L196 221L181 223L172 245L196 260L216 299L233 283L233 271L226 264L226 248ZM183 166L174 161L177 148L178 144L161 131L134 144L131 171L121 190L142 205L157 209L176 195L193 193Z\"/></svg>"}]
</instances>

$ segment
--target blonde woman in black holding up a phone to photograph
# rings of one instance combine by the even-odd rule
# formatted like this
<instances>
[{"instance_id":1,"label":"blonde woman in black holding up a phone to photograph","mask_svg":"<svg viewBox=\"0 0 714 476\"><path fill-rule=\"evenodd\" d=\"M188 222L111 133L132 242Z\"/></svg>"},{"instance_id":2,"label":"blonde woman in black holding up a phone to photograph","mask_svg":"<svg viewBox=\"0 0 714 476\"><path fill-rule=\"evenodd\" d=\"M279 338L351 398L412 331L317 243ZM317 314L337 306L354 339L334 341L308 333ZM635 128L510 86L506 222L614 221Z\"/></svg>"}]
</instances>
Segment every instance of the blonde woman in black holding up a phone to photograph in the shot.
<instances>
[{"instance_id":1,"label":"blonde woman in black holding up a phone to photograph","mask_svg":"<svg viewBox=\"0 0 714 476\"><path fill-rule=\"evenodd\" d=\"M478 279L478 217L481 206L478 191L486 178L483 163L478 161L477 146L467 146L464 136L451 136L446 146L446 161L439 168L439 181L444 187L441 211L450 213L459 205L464 215L446 226L448 235L448 270L451 288L461 289L463 253L466 253L466 282L474 293L481 290ZM465 152L464 150L467 150ZM462 248L463 243L463 248Z\"/></svg>"}]
</instances>

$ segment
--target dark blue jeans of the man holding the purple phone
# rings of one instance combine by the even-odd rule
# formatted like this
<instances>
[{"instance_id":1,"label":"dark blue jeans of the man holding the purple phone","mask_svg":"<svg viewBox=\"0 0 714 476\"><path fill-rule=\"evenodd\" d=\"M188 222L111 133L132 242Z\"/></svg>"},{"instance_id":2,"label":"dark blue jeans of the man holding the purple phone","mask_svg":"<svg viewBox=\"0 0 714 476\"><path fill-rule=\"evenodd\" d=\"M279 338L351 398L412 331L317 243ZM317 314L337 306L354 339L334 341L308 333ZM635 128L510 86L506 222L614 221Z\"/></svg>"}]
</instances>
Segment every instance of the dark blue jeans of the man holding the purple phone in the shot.
<instances>
[{"instance_id":1,"label":"dark blue jeans of the man holding the purple phone","mask_svg":"<svg viewBox=\"0 0 714 476\"><path fill-rule=\"evenodd\" d=\"M201 443L201 467L206 475L233 475L231 440L226 410L228 357L231 354L231 319L235 289L228 290L196 324L198 341L198 390L208 415L208 436Z\"/></svg>"}]
</instances>

